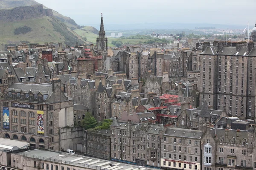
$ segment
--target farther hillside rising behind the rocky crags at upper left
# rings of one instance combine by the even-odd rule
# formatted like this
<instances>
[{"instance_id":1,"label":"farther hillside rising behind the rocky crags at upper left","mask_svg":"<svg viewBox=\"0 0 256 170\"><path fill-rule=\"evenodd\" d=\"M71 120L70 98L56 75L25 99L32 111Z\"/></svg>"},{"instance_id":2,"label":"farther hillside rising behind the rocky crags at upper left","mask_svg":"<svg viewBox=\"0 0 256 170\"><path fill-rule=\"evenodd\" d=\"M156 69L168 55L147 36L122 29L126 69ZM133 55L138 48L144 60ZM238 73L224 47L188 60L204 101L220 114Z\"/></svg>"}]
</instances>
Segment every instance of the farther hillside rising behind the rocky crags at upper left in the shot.
<instances>
[{"instance_id":1,"label":"farther hillside rising behind the rocky crags at upper left","mask_svg":"<svg viewBox=\"0 0 256 170\"><path fill-rule=\"evenodd\" d=\"M0 9L32 5L40 5L40 3L36 2L35 0L0 0ZM44 6L44 8L47 7ZM52 13L54 17L61 20L61 22L65 23L70 29L80 28L80 26L77 25L77 23L70 17L65 17L54 10L52 10Z\"/></svg>"}]
</instances>

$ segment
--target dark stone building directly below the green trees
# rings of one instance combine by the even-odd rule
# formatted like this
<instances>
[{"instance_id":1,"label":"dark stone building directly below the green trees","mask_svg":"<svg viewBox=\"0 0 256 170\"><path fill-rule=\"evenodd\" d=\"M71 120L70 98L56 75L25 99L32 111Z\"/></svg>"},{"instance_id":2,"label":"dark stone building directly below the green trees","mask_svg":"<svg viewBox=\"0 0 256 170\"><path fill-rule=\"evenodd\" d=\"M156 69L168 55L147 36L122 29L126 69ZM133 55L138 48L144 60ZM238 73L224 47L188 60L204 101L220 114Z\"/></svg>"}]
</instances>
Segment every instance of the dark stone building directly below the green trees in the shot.
<instances>
[{"instance_id":1,"label":"dark stone building directly below the green trees","mask_svg":"<svg viewBox=\"0 0 256 170\"><path fill-rule=\"evenodd\" d=\"M110 130L84 130L84 154L99 159L111 159Z\"/></svg>"}]
</instances>

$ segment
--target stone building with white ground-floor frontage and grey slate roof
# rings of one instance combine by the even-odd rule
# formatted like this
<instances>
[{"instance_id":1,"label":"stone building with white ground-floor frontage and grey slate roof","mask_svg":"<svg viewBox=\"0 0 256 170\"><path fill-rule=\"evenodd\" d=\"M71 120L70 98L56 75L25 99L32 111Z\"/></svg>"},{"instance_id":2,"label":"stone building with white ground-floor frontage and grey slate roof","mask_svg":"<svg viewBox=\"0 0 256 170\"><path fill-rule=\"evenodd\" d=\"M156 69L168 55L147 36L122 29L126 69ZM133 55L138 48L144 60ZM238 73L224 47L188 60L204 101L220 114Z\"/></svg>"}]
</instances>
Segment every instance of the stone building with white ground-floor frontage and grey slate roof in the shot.
<instances>
[{"instance_id":1,"label":"stone building with white ground-floor frontage and grey slate roof","mask_svg":"<svg viewBox=\"0 0 256 170\"><path fill-rule=\"evenodd\" d=\"M201 170L201 130L167 128L161 139L161 169Z\"/></svg>"}]
</instances>

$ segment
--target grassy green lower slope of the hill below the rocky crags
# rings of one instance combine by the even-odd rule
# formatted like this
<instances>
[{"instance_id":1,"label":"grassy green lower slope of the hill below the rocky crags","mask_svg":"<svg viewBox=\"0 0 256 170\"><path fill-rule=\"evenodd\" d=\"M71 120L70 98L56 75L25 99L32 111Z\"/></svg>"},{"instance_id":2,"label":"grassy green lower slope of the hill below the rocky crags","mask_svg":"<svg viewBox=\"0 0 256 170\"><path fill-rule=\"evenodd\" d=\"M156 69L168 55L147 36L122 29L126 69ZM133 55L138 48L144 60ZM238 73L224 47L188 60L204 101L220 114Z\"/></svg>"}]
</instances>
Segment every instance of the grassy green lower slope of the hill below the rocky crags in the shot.
<instances>
[{"instance_id":1,"label":"grassy green lower slope of the hill below the rocky crags","mask_svg":"<svg viewBox=\"0 0 256 170\"><path fill-rule=\"evenodd\" d=\"M16 34L17 29L24 26L31 28L25 34ZM16 30L16 31L15 31ZM0 45L2 50L5 44L21 44L22 41L30 43L64 42L67 45L83 43L81 37L67 28L67 26L55 17L43 17L39 19L8 22L0 24Z\"/></svg>"}]
</instances>

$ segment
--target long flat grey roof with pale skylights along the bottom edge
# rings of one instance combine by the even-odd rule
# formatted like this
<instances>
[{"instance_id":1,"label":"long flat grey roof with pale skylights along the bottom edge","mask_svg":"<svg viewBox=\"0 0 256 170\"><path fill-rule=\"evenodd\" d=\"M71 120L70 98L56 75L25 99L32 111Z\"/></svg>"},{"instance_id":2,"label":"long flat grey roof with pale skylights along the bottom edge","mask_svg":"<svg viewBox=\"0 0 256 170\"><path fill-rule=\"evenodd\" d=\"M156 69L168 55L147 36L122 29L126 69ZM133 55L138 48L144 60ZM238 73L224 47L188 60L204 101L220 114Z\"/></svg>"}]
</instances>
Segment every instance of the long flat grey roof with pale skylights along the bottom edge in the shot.
<instances>
[{"instance_id":1,"label":"long flat grey roof with pale skylights along the bottom edge","mask_svg":"<svg viewBox=\"0 0 256 170\"><path fill-rule=\"evenodd\" d=\"M37 158L44 161L47 160L55 163L70 164L70 166L78 166L90 169L101 168L105 170L154 170L154 168L141 167L132 164L124 164L117 161L98 159L90 156L70 154L66 152L55 152L50 150L35 149L14 154L23 155L31 158ZM112 164L112 167L109 164Z\"/></svg>"}]
</instances>

